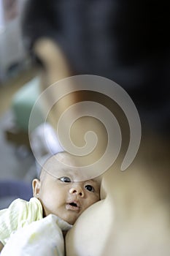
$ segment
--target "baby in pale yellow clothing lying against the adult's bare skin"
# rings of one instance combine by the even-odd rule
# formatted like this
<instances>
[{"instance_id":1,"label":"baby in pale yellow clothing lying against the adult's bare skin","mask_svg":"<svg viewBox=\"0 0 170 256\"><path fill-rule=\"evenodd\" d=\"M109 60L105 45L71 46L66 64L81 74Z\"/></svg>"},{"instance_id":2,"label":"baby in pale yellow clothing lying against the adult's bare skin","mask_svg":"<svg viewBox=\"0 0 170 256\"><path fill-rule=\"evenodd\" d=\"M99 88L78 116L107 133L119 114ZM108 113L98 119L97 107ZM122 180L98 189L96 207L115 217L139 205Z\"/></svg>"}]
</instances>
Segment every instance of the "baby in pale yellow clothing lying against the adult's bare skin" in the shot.
<instances>
[{"instance_id":1,"label":"baby in pale yellow clothing lying against the adult's bare skin","mask_svg":"<svg viewBox=\"0 0 170 256\"><path fill-rule=\"evenodd\" d=\"M68 153L53 155L43 165L39 179L32 182L34 197L29 202L17 199L9 208L0 211L1 255L11 252L12 243L15 243L15 250L20 248L20 242L16 246L20 239L26 240L22 244L27 244L27 249L28 244L33 249L40 242L42 248L43 238L50 251L42 249L39 255L50 255L52 250L56 253L51 255L63 255L62 233L72 227L86 208L100 200L100 178L81 179L82 174L75 166ZM52 236L53 249L50 247ZM12 255L15 253L21 255L19 251Z\"/></svg>"}]
</instances>

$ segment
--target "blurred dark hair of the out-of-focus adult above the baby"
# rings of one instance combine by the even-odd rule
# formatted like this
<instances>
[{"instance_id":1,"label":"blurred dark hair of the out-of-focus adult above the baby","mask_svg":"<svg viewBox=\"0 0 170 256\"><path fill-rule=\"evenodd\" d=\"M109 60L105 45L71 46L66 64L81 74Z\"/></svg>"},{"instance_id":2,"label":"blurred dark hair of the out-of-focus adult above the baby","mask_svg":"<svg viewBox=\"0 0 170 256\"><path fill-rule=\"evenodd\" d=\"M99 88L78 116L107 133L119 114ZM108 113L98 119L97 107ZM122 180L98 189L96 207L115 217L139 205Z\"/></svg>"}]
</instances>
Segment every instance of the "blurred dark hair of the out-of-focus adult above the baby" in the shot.
<instances>
[{"instance_id":1,"label":"blurred dark hair of the out-of-focus adult above the baby","mask_svg":"<svg viewBox=\"0 0 170 256\"><path fill-rule=\"evenodd\" d=\"M114 80L130 94L144 124L169 131L168 10L167 1L28 0L23 37L29 50L50 37L73 75Z\"/></svg>"}]
</instances>

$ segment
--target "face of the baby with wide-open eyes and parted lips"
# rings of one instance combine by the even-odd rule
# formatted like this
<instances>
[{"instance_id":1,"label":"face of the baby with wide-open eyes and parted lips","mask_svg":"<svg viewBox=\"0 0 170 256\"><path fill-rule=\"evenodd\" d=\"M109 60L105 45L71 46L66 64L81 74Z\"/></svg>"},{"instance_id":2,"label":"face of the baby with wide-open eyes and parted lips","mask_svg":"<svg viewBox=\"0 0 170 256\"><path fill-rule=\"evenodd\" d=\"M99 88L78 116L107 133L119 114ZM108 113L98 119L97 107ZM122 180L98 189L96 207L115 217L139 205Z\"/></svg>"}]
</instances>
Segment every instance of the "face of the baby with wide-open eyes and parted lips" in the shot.
<instances>
[{"instance_id":1,"label":"face of the baby with wide-open eyes and parted lips","mask_svg":"<svg viewBox=\"0 0 170 256\"><path fill-rule=\"evenodd\" d=\"M75 181L76 176L80 174L72 167L68 170L61 163L56 165L53 158L47 163L46 168L55 168L56 175L45 171L40 181L33 181L34 196L42 202L45 216L55 214L74 224L86 208L100 200L100 184L96 179Z\"/></svg>"}]
</instances>

